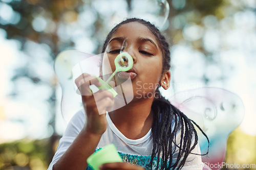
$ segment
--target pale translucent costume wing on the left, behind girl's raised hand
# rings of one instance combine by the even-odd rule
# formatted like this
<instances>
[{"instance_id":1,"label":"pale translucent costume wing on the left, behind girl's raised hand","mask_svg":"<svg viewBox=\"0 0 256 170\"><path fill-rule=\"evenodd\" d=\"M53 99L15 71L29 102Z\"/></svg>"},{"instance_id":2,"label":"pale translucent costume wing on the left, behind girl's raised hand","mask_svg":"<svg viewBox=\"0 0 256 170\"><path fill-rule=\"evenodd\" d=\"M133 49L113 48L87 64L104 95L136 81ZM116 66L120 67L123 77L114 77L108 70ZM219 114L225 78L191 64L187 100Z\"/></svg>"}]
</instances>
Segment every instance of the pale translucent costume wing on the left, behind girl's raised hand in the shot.
<instances>
[{"instance_id":1,"label":"pale translucent costume wing on the left, behind girl's raised hand","mask_svg":"<svg viewBox=\"0 0 256 170\"><path fill-rule=\"evenodd\" d=\"M71 117L80 109L82 109L81 96L77 95L74 84L73 67L86 58L92 58L93 55L81 53L76 50L68 50L60 53L54 61L54 71L59 80L62 96L61 96L61 113L65 122L69 122ZM96 60L95 63L98 63ZM93 62L91 63L92 66ZM94 71L95 69L89 69ZM73 72L72 72L73 71ZM97 72L94 72L97 75Z\"/></svg>"}]
</instances>

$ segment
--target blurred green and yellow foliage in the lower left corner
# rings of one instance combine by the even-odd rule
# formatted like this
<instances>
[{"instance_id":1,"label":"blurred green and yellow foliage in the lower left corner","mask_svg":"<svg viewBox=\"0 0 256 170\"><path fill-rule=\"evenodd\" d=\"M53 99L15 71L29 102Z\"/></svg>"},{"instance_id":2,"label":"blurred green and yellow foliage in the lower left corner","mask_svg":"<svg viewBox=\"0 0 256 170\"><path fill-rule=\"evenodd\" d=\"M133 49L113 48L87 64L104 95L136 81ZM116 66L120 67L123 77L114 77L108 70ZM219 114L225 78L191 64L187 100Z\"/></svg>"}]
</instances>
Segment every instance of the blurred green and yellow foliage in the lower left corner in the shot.
<instances>
[{"instance_id":1,"label":"blurred green and yellow foliage in the lower left corner","mask_svg":"<svg viewBox=\"0 0 256 170\"><path fill-rule=\"evenodd\" d=\"M47 169L49 139L19 140L0 144L0 169Z\"/></svg>"}]
</instances>

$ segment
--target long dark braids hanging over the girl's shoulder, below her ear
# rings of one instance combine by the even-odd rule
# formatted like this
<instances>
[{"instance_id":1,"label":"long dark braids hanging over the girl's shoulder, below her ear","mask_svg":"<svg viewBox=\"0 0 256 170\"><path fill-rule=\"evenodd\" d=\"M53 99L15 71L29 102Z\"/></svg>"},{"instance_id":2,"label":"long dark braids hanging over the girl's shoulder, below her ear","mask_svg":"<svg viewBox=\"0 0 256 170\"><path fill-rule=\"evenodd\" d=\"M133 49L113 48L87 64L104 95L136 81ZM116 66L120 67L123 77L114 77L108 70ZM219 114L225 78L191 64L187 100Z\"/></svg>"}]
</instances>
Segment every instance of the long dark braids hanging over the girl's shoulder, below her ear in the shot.
<instances>
[{"instance_id":1,"label":"long dark braids hanging over the girl's shoulder, below her ear","mask_svg":"<svg viewBox=\"0 0 256 170\"><path fill-rule=\"evenodd\" d=\"M153 164L153 158L157 156L157 167L159 166L159 163L161 163L161 169L181 169L185 164L188 155L193 149L195 149L196 145L198 144L198 135L193 124L199 128L207 140L208 137L193 120L190 120L184 113L170 104L168 100L164 99L159 91L157 91L157 94L159 95L156 96L152 104L154 120L152 126L153 152L151 165ZM173 122L171 120L173 120ZM179 131L181 136L180 143L178 144L176 142L176 135ZM194 143L192 143L193 137L195 138ZM174 164L171 164L173 151L177 150L177 148L177 160L174 162ZM161 162L159 159L160 153L162 153ZM167 160L169 160L168 165Z\"/></svg>"}]
</instances>

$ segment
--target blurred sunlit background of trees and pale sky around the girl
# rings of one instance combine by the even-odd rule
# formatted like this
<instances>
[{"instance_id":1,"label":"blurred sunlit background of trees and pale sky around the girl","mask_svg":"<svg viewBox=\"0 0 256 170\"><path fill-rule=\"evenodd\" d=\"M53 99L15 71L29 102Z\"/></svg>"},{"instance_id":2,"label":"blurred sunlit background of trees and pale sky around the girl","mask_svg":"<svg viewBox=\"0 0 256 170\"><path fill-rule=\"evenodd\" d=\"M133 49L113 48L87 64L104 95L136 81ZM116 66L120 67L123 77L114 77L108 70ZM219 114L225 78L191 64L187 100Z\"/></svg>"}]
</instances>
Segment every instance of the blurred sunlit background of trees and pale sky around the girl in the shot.
<instances>
[{"instance_id":1,"label":"blurred sunlit background of trees and pale sky around the girl","mask_svg":"<svg viewBox=\"0 0 256 170\"><path fill-rule=\"evenodd\" d=\"M48 167L67 125L55 57L70 48L99 54L115 23L151 17L155 8L145 7L147 1L0 1L0 169ZM166 95L208 86L240 96L245 116L228 138L225 161L256 163L256 2L156 2L161 11L152 21L172 42Z\"/></svg>"}]
</instances>

